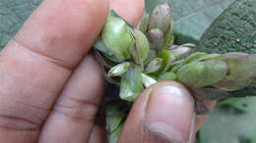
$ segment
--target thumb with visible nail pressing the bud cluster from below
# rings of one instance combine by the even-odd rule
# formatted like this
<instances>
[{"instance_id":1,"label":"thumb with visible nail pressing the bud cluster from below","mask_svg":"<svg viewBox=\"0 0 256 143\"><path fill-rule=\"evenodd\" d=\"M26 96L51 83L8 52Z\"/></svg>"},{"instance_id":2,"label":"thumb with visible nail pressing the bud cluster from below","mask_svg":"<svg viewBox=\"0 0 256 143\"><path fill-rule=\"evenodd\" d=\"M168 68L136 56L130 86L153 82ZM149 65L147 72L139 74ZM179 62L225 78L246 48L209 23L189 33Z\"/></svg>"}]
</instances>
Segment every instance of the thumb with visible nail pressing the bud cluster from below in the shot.
<instances>
[{"instance_id":1,"label":"thumb with visible nail pressing the bud cluster from below","mask_svg":"<svg viewBox=\"0 0 256 143\"><path fill-rule=\"evenodd\" d=\"M178 82L160 82L136 101L118 142L190 143L194 119L194 100L189 91Z\"/></svg>"}]
</instances>

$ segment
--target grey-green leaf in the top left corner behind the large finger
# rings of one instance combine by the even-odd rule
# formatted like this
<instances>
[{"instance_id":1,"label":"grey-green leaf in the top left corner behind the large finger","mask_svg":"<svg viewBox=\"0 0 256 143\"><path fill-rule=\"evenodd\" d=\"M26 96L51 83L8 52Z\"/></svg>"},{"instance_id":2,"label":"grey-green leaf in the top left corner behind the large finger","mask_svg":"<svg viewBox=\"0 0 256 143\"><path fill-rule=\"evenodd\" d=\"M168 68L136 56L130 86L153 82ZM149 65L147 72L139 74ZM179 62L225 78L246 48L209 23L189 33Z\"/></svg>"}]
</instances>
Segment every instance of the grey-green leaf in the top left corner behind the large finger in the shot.
<instances>
[{"instance_id":1,"label":"grey-green leaf in the top left corner behind the large finger","mask_svg":"<svg viewBox=\"0 0 256 143\"><path fill-rule=\"evenodd\" d=\"M14 36L41 0L0 0L0 50Z\"/></svg>"}]
</instances>

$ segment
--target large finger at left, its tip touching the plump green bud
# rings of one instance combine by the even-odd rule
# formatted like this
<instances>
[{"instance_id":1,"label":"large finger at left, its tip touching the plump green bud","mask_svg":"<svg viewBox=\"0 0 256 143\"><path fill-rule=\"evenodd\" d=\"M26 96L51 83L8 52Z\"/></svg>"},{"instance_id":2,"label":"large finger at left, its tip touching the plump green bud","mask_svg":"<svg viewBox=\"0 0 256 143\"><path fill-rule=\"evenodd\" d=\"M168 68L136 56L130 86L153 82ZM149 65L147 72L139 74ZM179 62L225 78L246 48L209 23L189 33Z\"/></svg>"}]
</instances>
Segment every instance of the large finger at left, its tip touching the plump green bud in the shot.
<instances>
[{"instance_id":1,"label":"large finger at left, its tip touching the plump green bud","mask_svg":"<svg viewBox=\"0 0 256 143\"><path fill-rule=\"evenodd\" d=\"M33 12L1 52L0 142L37 139L55 99L94 43L107 14L106 0L44 0Z\"/></svg>"}]
</instances>

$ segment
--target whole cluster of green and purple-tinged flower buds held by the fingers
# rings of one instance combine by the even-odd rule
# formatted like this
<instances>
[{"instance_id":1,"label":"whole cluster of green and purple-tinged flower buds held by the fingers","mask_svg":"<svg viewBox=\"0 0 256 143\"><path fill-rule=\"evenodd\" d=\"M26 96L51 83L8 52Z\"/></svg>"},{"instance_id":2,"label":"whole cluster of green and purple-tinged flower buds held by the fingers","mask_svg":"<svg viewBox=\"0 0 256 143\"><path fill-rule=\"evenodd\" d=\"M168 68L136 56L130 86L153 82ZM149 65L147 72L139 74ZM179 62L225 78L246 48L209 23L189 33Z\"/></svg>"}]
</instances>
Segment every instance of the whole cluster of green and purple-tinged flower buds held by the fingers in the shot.
<instances>
[{"instance_id":1,"label":"whole cluster of green and purple-tinged flower buds held by the fingers","mask_svg":"<svg viewBox=\"0 0 256 143\"><path fill-rule=\"evenodd\" d=\"M123 100L135 101L145 88L161 80L177 80L195 93L211 91L216 96L221 90L244 88L256 79L254 54L192 53L194 44L172 45L173 22L167 2L160 3L151 16L145 14L139 27L109 16L95 44L106 79L120 85Z\"/></svg>"}]
</instances>

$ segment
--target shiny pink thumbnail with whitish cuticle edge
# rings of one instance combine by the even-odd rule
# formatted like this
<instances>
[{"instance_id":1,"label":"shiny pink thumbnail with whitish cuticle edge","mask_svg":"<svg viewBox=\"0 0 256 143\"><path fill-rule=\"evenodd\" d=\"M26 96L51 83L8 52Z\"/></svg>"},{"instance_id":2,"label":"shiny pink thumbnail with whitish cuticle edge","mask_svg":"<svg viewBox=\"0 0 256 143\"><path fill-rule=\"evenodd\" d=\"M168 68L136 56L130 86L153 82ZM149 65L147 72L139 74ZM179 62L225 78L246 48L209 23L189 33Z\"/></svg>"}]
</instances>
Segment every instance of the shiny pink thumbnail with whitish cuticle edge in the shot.
<instances>
[{"instance_id":1,"label":"shiny pink thumbnail with whitish cuticle edge","mask_svg":"<svg viewBox=\"0 0 256 143\"><path fill-rule=\"evenodd\" d=\"M146 109L146 122L151 132L169 142L183 143L190 138L194 100L180 84L153 89Z\"/></svg>"}]
</instances>

